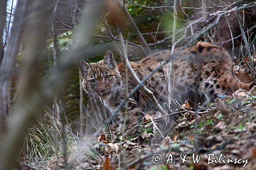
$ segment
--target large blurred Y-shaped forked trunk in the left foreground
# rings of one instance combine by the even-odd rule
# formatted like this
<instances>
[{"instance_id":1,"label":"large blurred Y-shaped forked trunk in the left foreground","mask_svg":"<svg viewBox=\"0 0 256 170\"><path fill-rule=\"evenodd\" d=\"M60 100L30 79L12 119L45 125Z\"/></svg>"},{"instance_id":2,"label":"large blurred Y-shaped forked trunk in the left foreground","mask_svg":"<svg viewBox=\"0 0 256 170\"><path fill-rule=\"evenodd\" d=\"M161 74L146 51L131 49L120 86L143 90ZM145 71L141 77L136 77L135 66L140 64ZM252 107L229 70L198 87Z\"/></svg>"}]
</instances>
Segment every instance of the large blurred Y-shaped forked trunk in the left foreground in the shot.
<instances>
[{"instance_id":1,"label":"large blurred Y-shaped forked trunk in the left foreground","mask_svg":"<svg viewBox=\"0 0 256 170\"><path fill-rule=\"evenodd\" d=\"M82 31L75 41L74 47L66 55L61 56L58 67L50 72L50 78L44 84L38 84L38 60L44 53L46 38L49 32L49 23L52 17L54 3L36 1L33 3L30 32L31 46L26 57L27 63L23 67L18 88L17 108L10 116L8 131L1 143L0 169L10 169L15 166L16 158L20 153L20 147L28 132L28 128L42 113L46 104L54 98L61 89L67 85L68 77L76 68L84 55L84 49L89 44L93 34L96 20L101 12L102 1L88 3L84 14ZM88 48L86 48L88 49Z\"/></svg>"}]
</instances>

